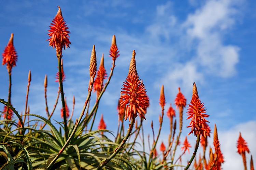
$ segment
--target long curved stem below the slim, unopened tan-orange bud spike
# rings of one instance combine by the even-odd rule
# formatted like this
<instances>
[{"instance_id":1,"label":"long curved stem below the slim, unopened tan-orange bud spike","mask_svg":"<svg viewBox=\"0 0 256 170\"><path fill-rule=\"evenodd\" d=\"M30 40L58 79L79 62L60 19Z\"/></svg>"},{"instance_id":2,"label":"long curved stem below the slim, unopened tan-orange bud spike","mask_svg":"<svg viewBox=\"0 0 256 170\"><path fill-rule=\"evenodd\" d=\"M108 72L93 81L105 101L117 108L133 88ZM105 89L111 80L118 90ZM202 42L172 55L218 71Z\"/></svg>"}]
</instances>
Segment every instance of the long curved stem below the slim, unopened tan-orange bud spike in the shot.
<instances>
[{"instance_id":1,"label":"long curved stem below the slim, unopened tan-orange bud spike","mask_svg":"<svg viewBox=\"0 0 256 170\"><path fill-rule=\"evenodd\" d=\"M70 134L68 140L66 141L66 143L63 145L63 147L61 148L61 150L59 151L59 153L55 156L55 158L52 160L52 162L48 165L47 169L46 170L50 170L52 168L52 166L54 165L54 163L56 162L56 160L58 159L58 157L62 154L62 152L66 149L66 147L68 146L70 140L73 138L77 128L78 128L78 125L80 124L81 120L82 120L82 117L84 115L84 112L85 112L85 109L87 107L87 104L88 104L88 101L89 101L89 98L91 97L91 91L93 90L93 78L90 79L90 85L89 85L89 91L88 91L88 95L87 95L87 98L86 98L86 101L84 103L84 107L82 109L82 113L80 114L80 117L78 120L76 120L76 123L75 123L75 126L74 126L74 129L72 131L72 133Z\"/></svg>"}]
</instances>

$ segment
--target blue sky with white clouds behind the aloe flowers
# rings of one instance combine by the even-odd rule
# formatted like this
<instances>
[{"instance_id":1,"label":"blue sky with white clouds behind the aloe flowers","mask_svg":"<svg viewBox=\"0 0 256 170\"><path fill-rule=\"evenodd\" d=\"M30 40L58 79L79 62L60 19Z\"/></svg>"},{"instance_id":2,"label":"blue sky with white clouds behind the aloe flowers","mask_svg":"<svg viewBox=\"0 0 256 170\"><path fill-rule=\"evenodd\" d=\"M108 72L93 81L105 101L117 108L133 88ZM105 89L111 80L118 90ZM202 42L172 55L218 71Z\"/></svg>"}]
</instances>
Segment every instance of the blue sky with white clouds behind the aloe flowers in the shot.
<instances>
[{"instance_id":1,"label":"blue sky with white clouds behind the aloe flowers","mask_svg":"<svg viewBox=\"0 0 256 170\"><path fill-rule=\"evenodd\" d=\"M67 105L73 119L78 118L84 105L88 82L89 61L93 45L97 64L104 54L104 66L110 73L109 57L112 36L116 36L120 56L116 60L113 77L100 101L93 129L97 129L103 114L107 129L116 133L117 102L123 81L128 73L132 50L136 51L137 71L145 84L150 107L144 121L145 138L158 129L160 88L164 85L165 115L160 141L167 145L169 120L166 111L181 88L187 103L191 100L193 82L204 103L207 119L213 133L217 126L225 163L223 169L240 170L242 157L237 153L236 142L241 132L248 143L256 165L256 2L252 0L185 0L185 1L4 1L0 0L0 48L4 50L14 33L14 46L18 54L12 69L11 102L20 113L25 110L27 76L31 70L28 105L30 113L46 117L43 81L48 77L47 100L51 111L57 96L55 81L57 57L49 47L48 31L58 8L68 24L70 48L63 50L63 83ZM7 101L9 77L5 66L0 67L0 98ZM92 95L92 100L95 99ZM93 105L91 103L91 105ZM3 107L0 106L0 107ZM61 121L60 100L53 120ZM186 111L187 107L185 108ZM176 110L176 114L178 111ZM190 132L190 120L183 115L181 142ZM128 127L128 121L126 121ZM212 144L212 137L209 143ZM196 137L188 140L192 146ZM139 146L137 146L139 148ZM186 154L186 163L190 154ZM193 152L192 152L193 153ZM251 156L247 154L247 165Z\"/></svg>"}]
</instances>

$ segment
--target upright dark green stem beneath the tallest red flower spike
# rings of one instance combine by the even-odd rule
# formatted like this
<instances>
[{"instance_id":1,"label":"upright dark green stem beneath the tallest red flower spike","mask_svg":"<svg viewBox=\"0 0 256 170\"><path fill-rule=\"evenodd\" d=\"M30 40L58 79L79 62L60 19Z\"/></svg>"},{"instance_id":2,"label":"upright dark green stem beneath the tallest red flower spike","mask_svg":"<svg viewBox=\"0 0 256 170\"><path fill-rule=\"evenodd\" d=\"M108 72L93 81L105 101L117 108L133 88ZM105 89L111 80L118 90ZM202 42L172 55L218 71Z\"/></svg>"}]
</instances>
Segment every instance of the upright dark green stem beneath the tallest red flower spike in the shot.
<instances>
[{"instance_id":1,"label":"upright dark green stem beneath the tallest red flower spike","mask_svg":"<svg viewBox=\"0 0 256 170\"><path fill-rule=\"evenodd\" d=\"M61 55L59 55L61 56ZM58 67L59 67L59 87L60 87L60 96L62 102L62 111L63 111L63 120L64 120L64 133L65 138L68 138L68 126L67 126L67 116L66 116L66 105L65 105L65 98L64 98L64 90L63 90L63 83L62 83L62 65L61 65L61 57L58 57Z\"/></svg>"}]
</instances>

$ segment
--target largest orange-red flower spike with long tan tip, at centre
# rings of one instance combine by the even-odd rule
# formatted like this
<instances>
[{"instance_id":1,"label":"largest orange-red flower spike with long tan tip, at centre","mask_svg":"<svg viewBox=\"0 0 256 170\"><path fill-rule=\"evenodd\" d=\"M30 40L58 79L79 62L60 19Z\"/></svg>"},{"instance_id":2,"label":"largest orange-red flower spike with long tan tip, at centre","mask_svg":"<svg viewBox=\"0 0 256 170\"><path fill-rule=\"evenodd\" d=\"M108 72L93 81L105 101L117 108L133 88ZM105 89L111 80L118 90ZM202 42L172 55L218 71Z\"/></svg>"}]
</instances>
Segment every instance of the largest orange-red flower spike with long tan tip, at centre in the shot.
<instances>
[{"instance_id":1,"label":"largest orange-red flower spike with long tan tip, at centre","mask_svg":"<svg viewBox=\"0 0 256 170\"><path fill-rule=\"evenodd\" d=\"M120 106L126 105L125 120L129 118L137 117L139 114L143 119L146 119L146 107L148 107L148 98L146 95L145 87L142 81L139 79L136 70L135 51L132 52L132 58L130 62L129 72L126 81L123 84L120 99L123 99Z\"/></svg>"}]
</instances>

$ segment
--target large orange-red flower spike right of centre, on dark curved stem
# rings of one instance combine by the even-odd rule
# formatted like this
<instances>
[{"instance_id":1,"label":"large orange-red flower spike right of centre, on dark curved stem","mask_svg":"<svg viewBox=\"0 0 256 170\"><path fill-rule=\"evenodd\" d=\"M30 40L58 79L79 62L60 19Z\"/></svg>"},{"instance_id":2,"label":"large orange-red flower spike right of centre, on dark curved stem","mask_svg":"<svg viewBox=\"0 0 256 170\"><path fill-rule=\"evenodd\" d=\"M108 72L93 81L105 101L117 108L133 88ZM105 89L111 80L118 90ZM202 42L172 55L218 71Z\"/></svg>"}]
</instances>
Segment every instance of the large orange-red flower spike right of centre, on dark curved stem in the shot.
<instances>
[{"instance_id":1,"label":"large orange-red flower spike right of centre, on dark curved stem","mask_svg":"<svg viewBox=\"0 0 256 170\"><path fill-rule=\"evenodd\" d=\"M194 86L196 86L195 83L194 83ZM196 87L193 87L193 89L196 89ZM203 135L204 137L210 136L210 133L208 133L209 132L208 125L206 124L206 122L209 122L209 121L204 119L205 117L209 117L209 115L204 114L206 113L205 112L206 109L203 106L204 105L199 99L197 91L193 92L192 99L187 109L188 111L187 119L191 118L189 126L187 126L187 128L191 127L191 132L189 132L189 134L194 133L195 136Z\"/></svg>"}]
</instances>

